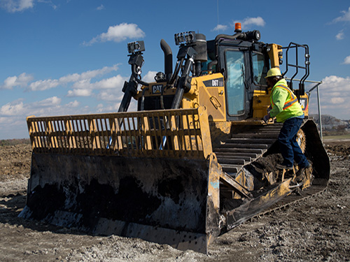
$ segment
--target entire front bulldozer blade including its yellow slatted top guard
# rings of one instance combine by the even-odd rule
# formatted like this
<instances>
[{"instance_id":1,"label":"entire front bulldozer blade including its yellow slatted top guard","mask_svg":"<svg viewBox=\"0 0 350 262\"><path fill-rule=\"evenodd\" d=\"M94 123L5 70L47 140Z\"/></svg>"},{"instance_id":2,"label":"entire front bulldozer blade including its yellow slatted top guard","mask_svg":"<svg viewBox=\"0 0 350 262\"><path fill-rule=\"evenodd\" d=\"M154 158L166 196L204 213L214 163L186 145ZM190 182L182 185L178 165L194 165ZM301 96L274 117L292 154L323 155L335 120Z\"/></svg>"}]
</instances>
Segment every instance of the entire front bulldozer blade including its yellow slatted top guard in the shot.
<instances>
[{"instance_id":1,"label":"entire front bulldozer blade including its yellow slatted top guard","mask_svg":"<svg viewBox=\"0 0 350 262\"><path fill-rule=\"evenodd\" d=\"M207 119L202 108L29 117L31 176L20 217L207 253L220 233Z\"/></svg>"}]
</instances>

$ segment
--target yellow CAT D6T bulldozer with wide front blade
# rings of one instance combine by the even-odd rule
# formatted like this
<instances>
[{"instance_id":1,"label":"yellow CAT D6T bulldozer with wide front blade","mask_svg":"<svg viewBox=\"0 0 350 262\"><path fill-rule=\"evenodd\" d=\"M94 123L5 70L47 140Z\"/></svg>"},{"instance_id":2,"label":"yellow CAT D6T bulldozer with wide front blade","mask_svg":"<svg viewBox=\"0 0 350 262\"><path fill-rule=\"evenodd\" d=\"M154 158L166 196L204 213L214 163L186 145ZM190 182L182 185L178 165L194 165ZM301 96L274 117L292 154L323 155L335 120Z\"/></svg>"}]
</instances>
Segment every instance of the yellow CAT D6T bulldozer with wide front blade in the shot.
<instances>
[{"instance_id":1,"label":"yellow CAT D6T bulldozer with wide front blade","mask_svg":"<svg viewBox=\"0 0 350 262\"><path fill-rule=\"evenodd\" d=\"M263 43L239 24L211 41L194 31L174 38L175 68L162 40L155 82L141 80L144 42L128 43L132 74L118 112L27 117L33 153L20 217L207 253L218 235L327 187L330 163L304 90L307 45ZM297 141L312 164L302 182L297 165L276 170L281 124L262 121L265 76L283 62L305 115ZM132 99L137 111L127 112Z\"/></svg>"}]
</instances>

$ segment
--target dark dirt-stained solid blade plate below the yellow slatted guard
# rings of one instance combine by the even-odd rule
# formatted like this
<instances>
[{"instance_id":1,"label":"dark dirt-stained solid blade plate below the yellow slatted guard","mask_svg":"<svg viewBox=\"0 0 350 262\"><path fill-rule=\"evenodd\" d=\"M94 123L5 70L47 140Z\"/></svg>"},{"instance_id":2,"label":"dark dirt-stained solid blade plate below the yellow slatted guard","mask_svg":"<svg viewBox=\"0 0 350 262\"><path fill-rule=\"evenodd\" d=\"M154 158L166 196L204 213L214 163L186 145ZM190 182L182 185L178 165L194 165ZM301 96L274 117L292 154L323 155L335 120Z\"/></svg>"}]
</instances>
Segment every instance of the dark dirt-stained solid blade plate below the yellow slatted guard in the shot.
<instances>
[{"instance_id":1,"label":"dark dirt-stained solid blade plate below the yellow slatted guard","mask_svg":"<svg viewBox=\"0 0 350 262\"><path fill-rule=\"evenodd\" d=\"M206 253L208 183L207 161L33 154L21 217Z\"/></svg>"}]
</instances>

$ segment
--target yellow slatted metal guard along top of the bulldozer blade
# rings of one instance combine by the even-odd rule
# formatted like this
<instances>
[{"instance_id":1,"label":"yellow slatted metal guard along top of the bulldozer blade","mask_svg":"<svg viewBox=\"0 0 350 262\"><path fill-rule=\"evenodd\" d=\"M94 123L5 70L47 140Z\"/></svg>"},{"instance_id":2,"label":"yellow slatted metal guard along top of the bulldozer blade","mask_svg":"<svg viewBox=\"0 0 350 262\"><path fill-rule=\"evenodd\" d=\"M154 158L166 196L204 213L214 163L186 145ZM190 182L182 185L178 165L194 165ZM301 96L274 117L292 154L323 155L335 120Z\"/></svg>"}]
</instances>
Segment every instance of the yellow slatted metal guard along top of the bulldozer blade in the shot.
<instances>
[{"instance_id":1,"label":"yellow slatted metal guard along top of the bulldozer blade","mask_svg":"<svg viewBox=\"0 0 350 262\"><path fill-rule=\"evenodd\" d=\"M204 108L27 117L36 154L207 158L211 138Z\"/></svg>"}]
</instances>

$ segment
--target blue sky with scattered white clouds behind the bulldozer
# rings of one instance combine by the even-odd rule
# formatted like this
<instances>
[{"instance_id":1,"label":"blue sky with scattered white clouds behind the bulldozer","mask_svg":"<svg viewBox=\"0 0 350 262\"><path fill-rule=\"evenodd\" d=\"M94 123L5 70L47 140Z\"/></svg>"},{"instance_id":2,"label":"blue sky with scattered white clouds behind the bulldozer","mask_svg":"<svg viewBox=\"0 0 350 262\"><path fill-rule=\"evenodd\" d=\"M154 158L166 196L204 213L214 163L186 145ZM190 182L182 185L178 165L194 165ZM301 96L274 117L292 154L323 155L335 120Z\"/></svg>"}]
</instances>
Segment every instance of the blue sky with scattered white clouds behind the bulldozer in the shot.
<instances>
[{"instance_id":1,"label":"blue sky with scattered white clouds behind the bulldozer","mask_svg":"<svg viewBox=\"0 0 350 262\"><path fill-rule=\"evenodd\" d=\"M350 119L349 1L274 8L267 1L0 0L0 139L27 138L29 115L116 112L130 78L130 41L145 41L148 81L164 71L162 38L175 61L174 34L193 30L210 40L234 34L235 22L260 30L265 43L308 44L308 79L323 81L321 112ZM315 105L313 92L311 113Z\"/></svg>"}]
</instances>

